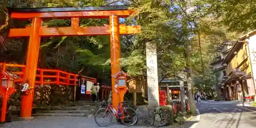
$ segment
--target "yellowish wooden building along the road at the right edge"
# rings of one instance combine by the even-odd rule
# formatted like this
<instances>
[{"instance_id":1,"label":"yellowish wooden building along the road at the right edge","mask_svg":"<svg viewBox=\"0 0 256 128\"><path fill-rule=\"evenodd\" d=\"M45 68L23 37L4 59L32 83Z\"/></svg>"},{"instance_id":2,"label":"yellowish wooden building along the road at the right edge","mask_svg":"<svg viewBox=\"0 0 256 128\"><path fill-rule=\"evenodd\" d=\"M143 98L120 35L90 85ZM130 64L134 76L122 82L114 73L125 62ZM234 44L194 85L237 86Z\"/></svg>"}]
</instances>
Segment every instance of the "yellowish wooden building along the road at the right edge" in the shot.
<instances>
[{"instance_id":1,"label":"yellowish wooden building along the road at the right edge","mask_svg":"<svg viewBox=\"0 0 256 128\"><path fill-rule=\"evenodd\" d=\"M252 63L248 41L245 38L240 38L232 46L222 65L226 66L227 72L227 77L221 85L223 97L226 100L253 99L255 88Z\"/></svg>"}]
</instances>

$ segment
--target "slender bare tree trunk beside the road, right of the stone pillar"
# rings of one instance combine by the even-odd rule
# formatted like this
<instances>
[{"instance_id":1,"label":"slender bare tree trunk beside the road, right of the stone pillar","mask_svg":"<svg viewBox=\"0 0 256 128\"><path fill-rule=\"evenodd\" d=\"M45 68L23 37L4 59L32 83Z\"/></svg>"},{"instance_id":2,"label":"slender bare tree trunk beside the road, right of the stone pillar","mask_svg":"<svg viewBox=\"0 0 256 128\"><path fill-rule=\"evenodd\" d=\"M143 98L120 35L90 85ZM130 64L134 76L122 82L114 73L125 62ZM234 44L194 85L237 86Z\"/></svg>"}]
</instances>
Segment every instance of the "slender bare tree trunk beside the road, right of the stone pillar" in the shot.
<instances>
[{"instance_id":1,"label":"slender bare tree trunk beside the road, right of the stone pillar","mask_svg":"<svg viewBox=\"0 0 256 128\"><path fill-rule=\"evenodd\" d=\"M191 69L191 58L190 58L190 41L186 42L186 67L189 69L187 72L187 93L188 93L188 103L189 108L192 114L196 114L196 105L195 105L195 98L193 95L193 81L191 78L192 69Z\"/></svg>"}]
</instances>

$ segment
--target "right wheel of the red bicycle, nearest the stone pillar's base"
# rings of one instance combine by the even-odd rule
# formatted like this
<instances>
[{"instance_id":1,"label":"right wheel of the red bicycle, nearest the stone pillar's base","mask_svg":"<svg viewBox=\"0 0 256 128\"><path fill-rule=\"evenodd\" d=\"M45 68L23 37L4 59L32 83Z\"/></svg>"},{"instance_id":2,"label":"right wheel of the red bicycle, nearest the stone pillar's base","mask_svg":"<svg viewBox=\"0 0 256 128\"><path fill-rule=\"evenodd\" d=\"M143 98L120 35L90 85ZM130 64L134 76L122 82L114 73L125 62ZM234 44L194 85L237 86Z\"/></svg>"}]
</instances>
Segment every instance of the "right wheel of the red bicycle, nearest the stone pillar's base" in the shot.
<instances>
[{"instance_id":1,"label":"right wheel of the red bicycle, nearest the stone pillar's base","mask_svg":"<svg viewBox=\"0 0 256 128\"><path fill-rule=\"evenodd\" d=\"M126 126L134 125L138 120L138 114L133 108L125 108L120 117L122 123Z\"/></svg>"}]
</instances>

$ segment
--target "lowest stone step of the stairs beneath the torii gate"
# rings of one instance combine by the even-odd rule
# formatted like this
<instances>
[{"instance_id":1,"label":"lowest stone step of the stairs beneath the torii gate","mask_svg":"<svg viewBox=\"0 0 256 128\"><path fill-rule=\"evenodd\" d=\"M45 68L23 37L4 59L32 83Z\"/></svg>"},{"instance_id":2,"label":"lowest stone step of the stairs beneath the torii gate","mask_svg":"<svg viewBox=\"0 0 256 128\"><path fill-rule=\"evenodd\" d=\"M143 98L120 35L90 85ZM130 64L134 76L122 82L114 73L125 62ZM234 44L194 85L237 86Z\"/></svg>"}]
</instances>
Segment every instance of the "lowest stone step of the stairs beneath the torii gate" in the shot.
<instances>
[{"instance_id":1,"label":"lowest stone step of the stairs beneath the torii gate","mask_svg":"<svg viewBox=\"0 0 256 128\"><path fill-rule=\"evenodd\" d=\"M84 117L88 116L86 113L37 113L32 116L75 116L75 117Z\"/></svg>"}]
</instances>

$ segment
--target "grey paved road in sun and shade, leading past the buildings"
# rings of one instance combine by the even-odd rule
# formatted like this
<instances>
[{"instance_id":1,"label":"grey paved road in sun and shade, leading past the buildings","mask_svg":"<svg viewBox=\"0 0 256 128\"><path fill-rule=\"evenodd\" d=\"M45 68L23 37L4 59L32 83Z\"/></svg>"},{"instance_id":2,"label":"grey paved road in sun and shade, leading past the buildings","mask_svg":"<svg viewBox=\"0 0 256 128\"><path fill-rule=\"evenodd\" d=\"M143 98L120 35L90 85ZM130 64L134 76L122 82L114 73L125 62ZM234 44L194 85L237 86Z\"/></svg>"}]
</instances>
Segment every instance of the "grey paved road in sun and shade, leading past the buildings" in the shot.
<instances>
[{"instance_id":1,"label":"grey paved road in sun and shade, leading past the buildings","mask_svg":"<svg viewBox=\"0 0 256 128\"><path fill-rule=\"evenodd\" d=\"M256 127L256 108L252 106L237 106L231 101L203 101L197 108L201 115L195 128Z\"/></svg>"}]
</instances>

